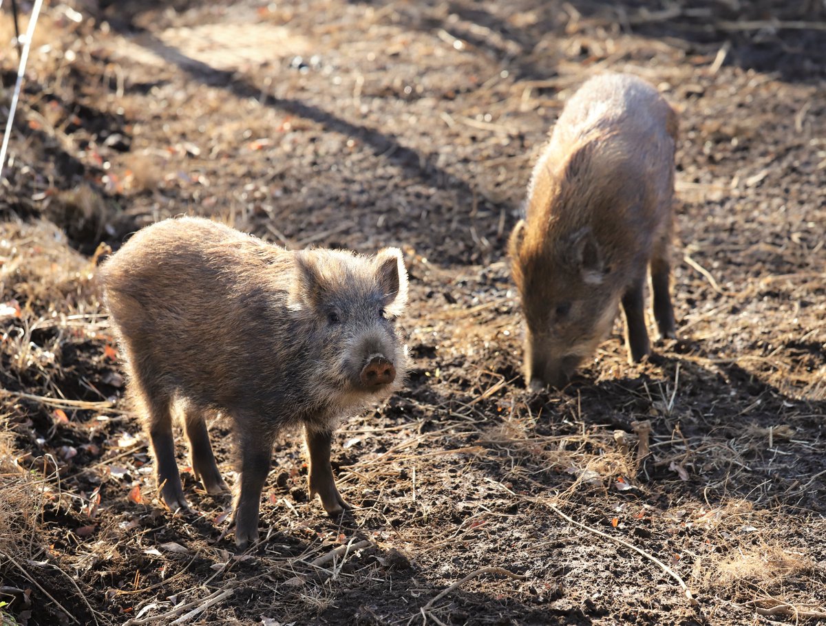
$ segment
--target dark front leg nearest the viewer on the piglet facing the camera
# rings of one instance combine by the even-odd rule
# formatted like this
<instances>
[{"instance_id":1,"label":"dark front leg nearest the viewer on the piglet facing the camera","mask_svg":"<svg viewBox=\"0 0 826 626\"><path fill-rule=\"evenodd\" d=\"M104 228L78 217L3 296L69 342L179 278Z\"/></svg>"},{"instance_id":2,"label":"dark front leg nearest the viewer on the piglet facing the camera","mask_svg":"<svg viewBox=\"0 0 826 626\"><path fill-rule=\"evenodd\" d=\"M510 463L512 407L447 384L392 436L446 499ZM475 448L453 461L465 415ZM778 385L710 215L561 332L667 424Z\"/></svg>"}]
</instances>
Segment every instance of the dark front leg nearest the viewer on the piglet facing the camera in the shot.
<instances>
[{"instance_id":1,"label":"dark front leg nearest the viewer on the piglet facing the camera","mask_svg":"<svg viewBox=\"0 0 826 626\"><path fill-rule=\"evenodd\" d=\"M269 466L273 458L273 434L259 429L247 420L236 418L236 424L244 424L247 434L240 434L240 476L238 495L235 499L235 545L247 548L258 540L259 509L261 491L267 481ZM249 426L249 428L248 428ZM241 430L241 429L239 429Z\"/></svg>"}]
</instances>

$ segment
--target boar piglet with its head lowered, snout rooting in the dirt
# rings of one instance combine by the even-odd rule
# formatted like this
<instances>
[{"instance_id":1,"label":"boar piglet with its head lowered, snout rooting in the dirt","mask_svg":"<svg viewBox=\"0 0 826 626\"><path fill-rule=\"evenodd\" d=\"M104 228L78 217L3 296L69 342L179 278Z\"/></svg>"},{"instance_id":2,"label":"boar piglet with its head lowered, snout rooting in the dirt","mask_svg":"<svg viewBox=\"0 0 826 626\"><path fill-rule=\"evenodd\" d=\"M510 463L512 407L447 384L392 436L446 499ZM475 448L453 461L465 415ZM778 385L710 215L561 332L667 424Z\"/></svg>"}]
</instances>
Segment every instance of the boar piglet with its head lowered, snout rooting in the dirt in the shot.
<instances>
[{"instance_id":1,"label":"boar piglet with its head lowered, snout rooting in the dirt","mask_svg":"<svg viewBox=\"0 0 826 626\"><path fill-rule=\"evenodd\" d=\"M591 78L567 102L534 167L509 255L525 314L529 386L562 387L625 313L630 360L650 352L646 270L663 337L669 294L676 114L627 74Z\"/></svg>"}]
</instances>

